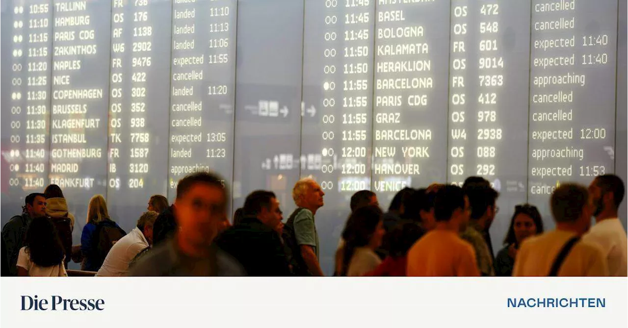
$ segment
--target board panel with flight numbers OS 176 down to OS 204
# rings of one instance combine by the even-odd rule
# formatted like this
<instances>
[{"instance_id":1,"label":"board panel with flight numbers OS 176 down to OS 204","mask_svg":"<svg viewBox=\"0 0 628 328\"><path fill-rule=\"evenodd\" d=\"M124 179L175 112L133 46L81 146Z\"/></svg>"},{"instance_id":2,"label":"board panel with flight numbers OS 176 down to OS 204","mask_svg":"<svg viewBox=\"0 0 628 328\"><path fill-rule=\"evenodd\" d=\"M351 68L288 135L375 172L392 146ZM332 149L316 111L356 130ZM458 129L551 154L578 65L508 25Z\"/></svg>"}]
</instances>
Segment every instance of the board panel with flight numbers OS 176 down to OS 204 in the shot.
<instances>
[{"instance_id":1,"label":"board panel with flight numbers OS 176 down to OS 204","mask_svg":"<svg viewBox=\"0 0 628 328\"><path fill-rule=\"evenodd\" d=\"M137 199L166 194L171 9L168 1L113 0L107 200L114 218L146 209Z\"/></svg>"}]
</instances>

